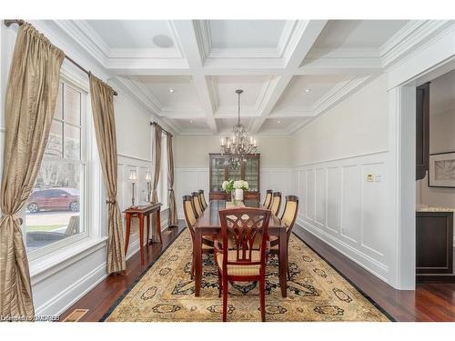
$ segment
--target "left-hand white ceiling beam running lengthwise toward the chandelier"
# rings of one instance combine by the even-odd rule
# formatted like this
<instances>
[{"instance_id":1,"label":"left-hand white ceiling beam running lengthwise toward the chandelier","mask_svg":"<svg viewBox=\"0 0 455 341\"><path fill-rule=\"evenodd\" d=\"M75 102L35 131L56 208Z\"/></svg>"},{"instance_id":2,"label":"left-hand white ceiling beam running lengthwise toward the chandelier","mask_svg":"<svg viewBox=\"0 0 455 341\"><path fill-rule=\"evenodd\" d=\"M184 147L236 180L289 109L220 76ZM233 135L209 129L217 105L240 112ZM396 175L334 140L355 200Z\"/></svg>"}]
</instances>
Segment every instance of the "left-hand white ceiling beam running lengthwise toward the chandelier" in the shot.
<instances>
[{"instance_id":1,"label":"left-hand white ceiling beam running lengthwise toward the chandelier","mask_svg":"<svg viewBox=\"0 0 455 341\"><path fill-rule=\"evenodd\" d=\"M207 115L207 125L213 134L217 134L217 121L214 117L213 95L207 78L200 71L204 68L204 61L199 49L197 34L192 20L175 20L171 22L174 32L177 34L182 53L187 59L189 69L193 74L193 83L196 87L197 96L202 109Z\"/></svg>"}]
</instances>

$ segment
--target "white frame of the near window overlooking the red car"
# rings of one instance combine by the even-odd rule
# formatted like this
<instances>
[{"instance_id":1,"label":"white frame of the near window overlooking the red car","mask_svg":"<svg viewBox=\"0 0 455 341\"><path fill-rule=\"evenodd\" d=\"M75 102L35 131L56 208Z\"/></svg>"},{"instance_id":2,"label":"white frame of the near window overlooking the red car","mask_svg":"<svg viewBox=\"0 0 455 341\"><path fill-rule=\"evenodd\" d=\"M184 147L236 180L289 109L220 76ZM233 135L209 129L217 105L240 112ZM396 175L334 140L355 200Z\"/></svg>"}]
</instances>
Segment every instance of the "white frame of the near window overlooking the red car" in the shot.
<instances>
[{"instance_id":1,"label":"white frame of the near window overlooking the red car","mask_svg":"<svg viewBox=\"0 0 455 341\"><path fill-rule=\"evenodd\" d=\"M37 261L39 259L44 259L45 256L55 253L56 251L67 248L68 246L73 246L78 242L86 239L89 236L93 236L92 229L90 226L93 226L96 217L93 215L96 210L92 207L92 202L96 201L96 197L99 196L92 196L89 194L89 188L93 184L93 178L96 177L96 167L93 165L93 154L94 154L94 147L95 145L95 130L93 126L93 120L91 119L91 105L90 105L90 92L88 87L88 82L84 82L80 79L80 77L76 75L71 75L66 73L65 70L62 68L61 75L60 75L60 82L64 83L66 86L70 86L77 91L82 93L81 95L81 159L74 160L74 162L82 167L81 176L81 189L80 189L80 199L79 199L79 212L81 217L83 217L83 224L84 224L84 232L81 232L75 236L67 236L66 238L56 241L48 246L40 247L33 251L27 251L28 260L31 263L31 267L33 266L33 261ZM65 143L65 141L64 141ZM58 160L62 161L62 158L59 157L52 157L52 156L44 156L44 160ZM65 162L72 162L70 159L63 159ZM99 163L99 162L98 162ZM94 188L96 191L96 188ZM97 191L96 191L97 192ZM99 192L98 192L99 193ZM99 211L98 211L99 212ZM24 226L26 232L26 219L25 219L25 209L23 210L23 219L24 219ZM100 219L97 219L98 221ZM26 234L25 234L25 246L26 246Z\"/></svg>"}]
</instances>

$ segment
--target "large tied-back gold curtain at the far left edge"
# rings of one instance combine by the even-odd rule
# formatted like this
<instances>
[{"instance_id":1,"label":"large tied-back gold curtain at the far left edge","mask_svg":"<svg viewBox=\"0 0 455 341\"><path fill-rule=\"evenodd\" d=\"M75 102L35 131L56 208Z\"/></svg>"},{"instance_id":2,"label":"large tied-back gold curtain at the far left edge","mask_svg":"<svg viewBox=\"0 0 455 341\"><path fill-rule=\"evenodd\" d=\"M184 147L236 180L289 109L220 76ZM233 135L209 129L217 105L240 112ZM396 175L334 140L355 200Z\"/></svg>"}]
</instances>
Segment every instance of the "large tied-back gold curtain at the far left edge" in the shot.
<instances>
[{"instance_id":1,"label":"large tied-back gold curtain at the far left edge","mask_svg":"<svg viewBox=\"0 0 455 341\"><path fill-rule=\"evenodd\" d=\"M5 154L0 208L0 316L35 315L27 255L17 213L35 185L52 119L64 53L22 25L5 98Z\"/></svg>"}]
</instances>

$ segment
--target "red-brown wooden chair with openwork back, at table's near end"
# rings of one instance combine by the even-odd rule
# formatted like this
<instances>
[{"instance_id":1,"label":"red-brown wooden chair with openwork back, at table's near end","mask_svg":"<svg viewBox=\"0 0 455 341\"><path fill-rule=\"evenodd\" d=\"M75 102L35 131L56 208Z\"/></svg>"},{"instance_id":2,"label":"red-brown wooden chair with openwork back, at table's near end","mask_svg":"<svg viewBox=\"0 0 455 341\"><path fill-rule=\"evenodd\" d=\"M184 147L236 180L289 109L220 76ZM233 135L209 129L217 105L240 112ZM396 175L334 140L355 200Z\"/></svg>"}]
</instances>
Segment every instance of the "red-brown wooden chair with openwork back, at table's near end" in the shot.
<instances>
[{"instance_id":1,"label":"red-brown wooden chair with openwork back, at table's near end","mask_svg":"<svg viewBox=\"0 0 455 341\"><path fill-rule=\"evenodd\" d=\"M270 211L260 208L230 208L219 211L222 245L214 237L219 294L223 295L223 322L227 320L228 283L259 282L260 313L266 320L266 263ZM260 238L258 250L254 249ZM230 241L230 243L229 243Z\"/></svg>"}]
</instances>

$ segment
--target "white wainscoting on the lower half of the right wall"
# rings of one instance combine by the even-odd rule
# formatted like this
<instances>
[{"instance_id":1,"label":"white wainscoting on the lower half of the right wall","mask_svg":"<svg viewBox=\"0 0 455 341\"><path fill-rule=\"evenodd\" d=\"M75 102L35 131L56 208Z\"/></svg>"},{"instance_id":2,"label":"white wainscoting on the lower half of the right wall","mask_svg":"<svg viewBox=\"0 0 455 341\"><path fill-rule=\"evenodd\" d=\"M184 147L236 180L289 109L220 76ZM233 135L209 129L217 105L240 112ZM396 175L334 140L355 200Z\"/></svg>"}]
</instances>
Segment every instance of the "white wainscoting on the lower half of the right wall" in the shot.
<instances>
[{"instance_id":1,"label":"white wainscoting on the lower half of the right wall","mask_svg":"<svg viewBox=\"0 0 455 341\"><path fill-rule=\"evenodd\" d=\"M298 188L299 226L389 282L386 159L387 152L378 152L293 167L292 188Z\"/></svg>"}]
</instances>

